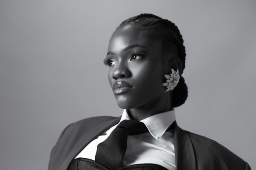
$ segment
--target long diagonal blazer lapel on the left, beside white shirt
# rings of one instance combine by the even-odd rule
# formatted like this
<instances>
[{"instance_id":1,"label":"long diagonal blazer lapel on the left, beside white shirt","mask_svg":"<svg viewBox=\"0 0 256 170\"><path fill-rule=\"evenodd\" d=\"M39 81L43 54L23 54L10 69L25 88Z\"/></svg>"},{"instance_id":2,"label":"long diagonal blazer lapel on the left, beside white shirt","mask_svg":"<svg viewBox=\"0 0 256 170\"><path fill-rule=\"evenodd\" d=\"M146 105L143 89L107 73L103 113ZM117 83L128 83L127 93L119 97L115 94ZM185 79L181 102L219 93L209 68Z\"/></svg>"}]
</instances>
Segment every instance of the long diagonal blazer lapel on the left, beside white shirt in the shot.
<instances>
[{"instance_id":1,"label":"long diagonal blazer lapel on the left, beside white shirt","mask_svg":"<svg viewBox=\"0 0 256 170\"><path fill-rule=\"evenodd\" d=\"M74 147L70 151L70 153L67 154L67 157L64 159L63 163L61 164L59 170L67 170L68 165L70 164L70 161L72 161L77 154L79 154L87 144L89 144L91 141L96 139L100 134L108 130L113 125L116 125L121 119L121 116L117 117L116 119L111 120L110 122L106 123L104 122L102 125L98 125L93 128L93 133L84 133L81 134L82 137L79 139L76 144L74 144Z\"/></svg>"}]
</instances>

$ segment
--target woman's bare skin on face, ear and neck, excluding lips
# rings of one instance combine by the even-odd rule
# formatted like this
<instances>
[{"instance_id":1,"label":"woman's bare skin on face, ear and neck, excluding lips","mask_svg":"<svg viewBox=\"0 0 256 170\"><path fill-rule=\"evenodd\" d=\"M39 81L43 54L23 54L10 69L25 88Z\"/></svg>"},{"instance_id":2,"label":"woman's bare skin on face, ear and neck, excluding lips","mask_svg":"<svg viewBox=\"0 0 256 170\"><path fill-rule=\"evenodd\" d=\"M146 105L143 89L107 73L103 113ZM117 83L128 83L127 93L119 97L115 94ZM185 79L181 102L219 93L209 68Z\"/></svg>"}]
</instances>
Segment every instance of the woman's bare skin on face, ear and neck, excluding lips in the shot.
<instances>
[{"instance_id":1,"label":"woman's bare skin on face, ear and neck, excluding lips","mask_svg":"<svg viewBox=\"0 0 256 170\"><path fill-rule=\"evenodd\" d=\"M134 44L145 48L123 51ZM161 57L164 57L164 62ZM128 109L131 119L142 120L173 109L170 106L172 92L165 92L166 87L162 83L166 82L164 74L170 74L171 68L181 70L182 65L177 55L163 56L160 40L143 36L132 26L118 28L111 36L106 58L112 61L108 71L111 89L120 80L133 86L123 94L114 94L118 106Z\"/></svg>"}]
</instances>

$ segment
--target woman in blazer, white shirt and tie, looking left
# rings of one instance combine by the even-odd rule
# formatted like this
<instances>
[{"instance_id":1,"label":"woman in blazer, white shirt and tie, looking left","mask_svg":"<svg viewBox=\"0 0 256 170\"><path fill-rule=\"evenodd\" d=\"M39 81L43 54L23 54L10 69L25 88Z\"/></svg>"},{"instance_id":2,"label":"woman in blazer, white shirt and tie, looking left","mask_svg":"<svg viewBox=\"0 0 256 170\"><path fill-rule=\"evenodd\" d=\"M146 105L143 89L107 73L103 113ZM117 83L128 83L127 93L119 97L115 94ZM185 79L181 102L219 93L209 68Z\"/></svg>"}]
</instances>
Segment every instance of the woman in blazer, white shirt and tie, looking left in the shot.
<instances>
[{"instance_id":1,"label":"woman in blazer, white shirt and tie, looking left","mask_svg":"<svg viewBox=\"0 0 256 170\"><path fill-rule=\"evenodd\" d=\"M49 170L250 170L221 144L177 126L174 108L188 94L185 57L171 21L153 14L123 21L104 59L122 116L67 126L52 148Z\"/></svg>"}]
</instances>

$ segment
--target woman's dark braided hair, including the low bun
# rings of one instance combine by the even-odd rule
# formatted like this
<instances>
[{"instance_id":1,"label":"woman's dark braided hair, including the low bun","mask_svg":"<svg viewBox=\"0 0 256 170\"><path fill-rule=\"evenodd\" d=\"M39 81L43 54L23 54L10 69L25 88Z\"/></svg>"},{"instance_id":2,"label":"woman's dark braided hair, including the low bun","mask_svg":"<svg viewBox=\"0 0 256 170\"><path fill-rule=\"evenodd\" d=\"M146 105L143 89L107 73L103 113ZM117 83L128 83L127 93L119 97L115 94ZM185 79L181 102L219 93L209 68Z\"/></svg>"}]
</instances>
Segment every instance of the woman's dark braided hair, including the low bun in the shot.
<instances>
[{"instance_id":1,"label":"woman's dark braided hair, including the low bun","mask_svg":"<svg viewBox=\"0 0 256 170\"><path fill-rule=\"evenodd\" d=\"M116 29L132 25L134 29L141 30L143 34L154 38L160 39L163 42L163 53L177 53L178 58L182 63L183 73L185 68L185 46L183 45L183 38L179 29L169 20L158 17L154 14L140 14L135 17L128 18L123 21ZM182 105L188 96L188 88L185 79L180 75L180 80L177 86L172 90L172 105L175 108Z\"/></svg>"}]
</instances>

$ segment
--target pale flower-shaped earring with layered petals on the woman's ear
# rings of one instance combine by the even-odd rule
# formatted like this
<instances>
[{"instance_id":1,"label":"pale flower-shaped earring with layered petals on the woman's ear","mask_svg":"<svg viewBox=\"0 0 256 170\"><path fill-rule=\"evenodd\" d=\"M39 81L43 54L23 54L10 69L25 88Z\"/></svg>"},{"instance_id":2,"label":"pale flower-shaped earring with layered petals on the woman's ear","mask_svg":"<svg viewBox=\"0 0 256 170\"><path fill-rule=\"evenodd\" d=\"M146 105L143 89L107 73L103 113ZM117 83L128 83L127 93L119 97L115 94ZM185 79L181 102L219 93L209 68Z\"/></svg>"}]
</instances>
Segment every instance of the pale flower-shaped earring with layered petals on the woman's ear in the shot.
<instances>
[{"instance_id":1,"label":"pale flower-shaped earring with layered petals on the woman's ear","mask_svg":"<svg viewBox=\"0 0 256 170\"><path fill-rule=\"evenodd\" d=\"M176 87L180 79L179 69L177 69L177 71L174 71L174 69L172 68L172 73L170 75L165 74L164 77L167 80L162 85L167 86L166 91L172 91Z\"/></svg>"}]
</instances>

